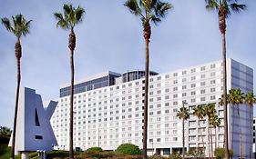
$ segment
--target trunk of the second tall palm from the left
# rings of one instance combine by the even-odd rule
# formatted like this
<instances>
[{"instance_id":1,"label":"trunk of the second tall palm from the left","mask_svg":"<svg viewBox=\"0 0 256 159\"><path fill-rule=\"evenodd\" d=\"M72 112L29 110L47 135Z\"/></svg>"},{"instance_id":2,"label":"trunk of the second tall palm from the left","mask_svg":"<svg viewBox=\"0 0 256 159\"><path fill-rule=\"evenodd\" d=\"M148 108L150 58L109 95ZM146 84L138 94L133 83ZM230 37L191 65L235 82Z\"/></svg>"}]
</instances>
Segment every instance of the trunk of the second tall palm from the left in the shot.
<instances>
[{"instance_id":1,"label":"trunk of the second tall palm from the left","mask_svg":"<svg viewBox=\"0 0 256 159\"><path fill-rule=\"evenodd\" d=\"M74 127L74 50L76 47L76 35L71 29L69 34L69 45L70 49L70 70L71 70L71 86L70 86L70 123L69 123L69 158L74 159L74 148L73 148L73 127Z\"/></svg>"}]
</instances>

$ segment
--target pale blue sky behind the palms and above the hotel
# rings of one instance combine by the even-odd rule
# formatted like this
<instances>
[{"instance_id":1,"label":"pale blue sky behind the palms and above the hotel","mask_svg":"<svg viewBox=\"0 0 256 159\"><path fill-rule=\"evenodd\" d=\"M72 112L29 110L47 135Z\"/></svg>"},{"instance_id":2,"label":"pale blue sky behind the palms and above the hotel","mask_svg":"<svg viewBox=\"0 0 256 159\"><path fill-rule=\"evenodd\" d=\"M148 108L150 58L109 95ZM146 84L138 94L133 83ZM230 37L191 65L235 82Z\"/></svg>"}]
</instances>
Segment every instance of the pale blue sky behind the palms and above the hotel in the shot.
<instances>
[{"instance_id":1,"label":"pale blue sky behind the palms and above the hotel","mask_svg":"<svg viewBox=\"0 0 256 159\"><path fill-rule=\"evenodd\" d=\"M217 13L206 11L204 0L164 2L173 5L173 9L158 26L152 25L150 69L165 73L220 60ZM255 70L256 1L241 2L248 5L247 10L227 20L227 57ZM124 0L2 1L1 18L22 14L33 20L30 34L21 39L21 86L36 89L43 101L57 99L60 85L70 79L69 32L56 28L53 15L62 13L63 5L70 3L86 10L83 22L75 28L76 79L108 70L124 73L145 66L142 25L123 5ZM8 127L12 127L15 107L15 41L15 35L0 25L0 125Z\"/></svg>"}]
</instances>

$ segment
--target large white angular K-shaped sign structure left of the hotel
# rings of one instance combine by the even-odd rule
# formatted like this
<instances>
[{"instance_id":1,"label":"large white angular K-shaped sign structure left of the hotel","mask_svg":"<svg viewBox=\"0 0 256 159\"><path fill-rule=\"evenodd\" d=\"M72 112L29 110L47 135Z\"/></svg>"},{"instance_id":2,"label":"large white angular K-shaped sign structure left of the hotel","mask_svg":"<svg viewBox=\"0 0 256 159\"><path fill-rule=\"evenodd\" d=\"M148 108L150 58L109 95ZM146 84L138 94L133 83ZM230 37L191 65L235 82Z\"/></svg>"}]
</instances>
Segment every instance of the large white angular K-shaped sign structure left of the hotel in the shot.
<instances>
[{"instance_id":1,"label":"large white angular K-shaped sign structure left of the hotel","mask_svg":"<svg viewBox=\"0 0 256 159\"><path fill-rule=\"evenodd\" d=\"M17 113L15 151L52 151L56 137L50 124L57 102L51 101L44 107L36 90L24 88L19 98ZM9 146L12 144L12 137Z\"/></svg>"}]
</instances>

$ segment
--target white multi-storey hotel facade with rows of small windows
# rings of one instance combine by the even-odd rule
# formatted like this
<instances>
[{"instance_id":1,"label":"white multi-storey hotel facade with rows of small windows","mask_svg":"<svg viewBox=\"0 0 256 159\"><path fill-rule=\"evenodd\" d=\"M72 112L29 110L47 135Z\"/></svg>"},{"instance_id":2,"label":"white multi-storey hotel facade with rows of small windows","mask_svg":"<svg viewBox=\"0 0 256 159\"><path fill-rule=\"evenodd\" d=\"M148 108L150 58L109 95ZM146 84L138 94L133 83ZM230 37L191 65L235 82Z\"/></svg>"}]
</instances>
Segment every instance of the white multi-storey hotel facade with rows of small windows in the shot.
<instances>
[{"instance_id":1,"label":"white multi-storey hotel facade with rows of small windows","mask_svg":"<svg viewBox=\"0 0 256 159\"><path fill-rule=\"evenodd\" d=\"M228 90L241 88L245 93L253 90L253 70L227 59ZM119 144L132 143L142 148L143 80L114 84L75 94L74 144L85 150L100 146L115 150ZM217 129L217 144L223 146L223 110L218 100L222 94L221 61L196 65L169 73L149 76L148 95L148 154L171 154L182 147L182 122L176 117L182 101L190 113L197 104L216 104L221 118ZM51 119L59 149L68 149L69 96L61 97ZM231 123L229 111L229 124ZM243 154L249 153L249 111L241 108ZM200 121L206 154L209 146L206 119ZM186 147L202 146L197 118L190 115L185 125ZM231 129L230 129L231 130ZM212 133L214 134L214 129ZM235 139L239 139L238 121L235 120ZM230 133L232 134L232 133ZM213 135L213 148L215 135ZM239 140L233 144L235 156L240 154ZM153 152L153 151L154 152Z\"/></svg>"}]
</instances>

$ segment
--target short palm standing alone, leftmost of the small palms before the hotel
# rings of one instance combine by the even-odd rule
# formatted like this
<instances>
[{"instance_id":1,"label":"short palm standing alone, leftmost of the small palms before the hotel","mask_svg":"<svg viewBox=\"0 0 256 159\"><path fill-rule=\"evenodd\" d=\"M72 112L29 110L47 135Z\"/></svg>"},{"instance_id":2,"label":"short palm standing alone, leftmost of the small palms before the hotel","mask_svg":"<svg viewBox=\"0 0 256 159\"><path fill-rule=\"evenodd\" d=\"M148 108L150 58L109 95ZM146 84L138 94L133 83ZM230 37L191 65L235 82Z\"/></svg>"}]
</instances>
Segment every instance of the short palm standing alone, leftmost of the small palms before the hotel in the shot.
<instances>
[{"instance_id":1,"label":"short palm standing alone, leftmost of the small palms before the hotel","mask_svg":"<svg viewBox=\"0 0 256 159\"><path fill-rule=\"evenodd\" d=\"M184 104L183 104L184 105ZM184 122L189 119L189 109L186 107L181 107L177 112L177 117L182 119L182 158L185 158L185 129L184 129Z\"/></svg>"}]
</instances>

